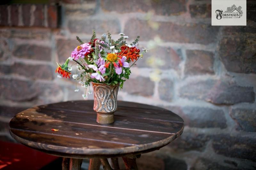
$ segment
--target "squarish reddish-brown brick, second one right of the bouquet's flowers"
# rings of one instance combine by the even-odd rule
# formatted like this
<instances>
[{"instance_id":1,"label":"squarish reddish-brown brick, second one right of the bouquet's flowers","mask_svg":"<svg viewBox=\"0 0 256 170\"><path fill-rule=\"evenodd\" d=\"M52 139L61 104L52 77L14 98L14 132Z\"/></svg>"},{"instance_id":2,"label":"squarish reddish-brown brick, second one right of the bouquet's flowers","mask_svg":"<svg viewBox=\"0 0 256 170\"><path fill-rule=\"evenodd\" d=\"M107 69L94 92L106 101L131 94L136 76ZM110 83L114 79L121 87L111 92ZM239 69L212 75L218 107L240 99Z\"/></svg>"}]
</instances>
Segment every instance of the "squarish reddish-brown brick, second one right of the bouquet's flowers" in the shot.
<instances>
[{"instance_id":1,"label":"squarish reddish-brown brick, second one right of the bouquet's flowers","mask_svg":"<svg viewBox=\"0 0 256 170\"><path fill-rule=\"evenodd\" d=\"M187 60L185 63L185 74L214 74L213 53L200 50L187 50Z\"/></svg>"}]
</instances>

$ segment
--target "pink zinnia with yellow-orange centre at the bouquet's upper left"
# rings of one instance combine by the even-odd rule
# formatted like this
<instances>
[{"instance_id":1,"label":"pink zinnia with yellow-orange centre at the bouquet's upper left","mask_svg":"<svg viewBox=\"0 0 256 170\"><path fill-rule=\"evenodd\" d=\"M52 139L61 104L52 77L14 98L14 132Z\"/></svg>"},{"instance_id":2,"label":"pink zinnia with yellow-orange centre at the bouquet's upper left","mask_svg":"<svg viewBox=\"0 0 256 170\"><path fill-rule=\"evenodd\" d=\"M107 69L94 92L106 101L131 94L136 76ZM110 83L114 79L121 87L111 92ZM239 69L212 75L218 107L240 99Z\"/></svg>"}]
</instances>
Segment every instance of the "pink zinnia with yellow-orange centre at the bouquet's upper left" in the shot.
<instances>
[{"instance_id":1,"label":"pink zinnia with yellow-orange centre at the bouquet's upper left","mask_svg":"<svg viewBox=\"0 0 256 170\"><path fill-rule=\"evenodd\" d=\"M79 57L84 58L84 56L91 53L91 46L89 43L84 43L81 46L77 46L71 53L71 57L77 60Z\"/></svg>"}]
</instances>

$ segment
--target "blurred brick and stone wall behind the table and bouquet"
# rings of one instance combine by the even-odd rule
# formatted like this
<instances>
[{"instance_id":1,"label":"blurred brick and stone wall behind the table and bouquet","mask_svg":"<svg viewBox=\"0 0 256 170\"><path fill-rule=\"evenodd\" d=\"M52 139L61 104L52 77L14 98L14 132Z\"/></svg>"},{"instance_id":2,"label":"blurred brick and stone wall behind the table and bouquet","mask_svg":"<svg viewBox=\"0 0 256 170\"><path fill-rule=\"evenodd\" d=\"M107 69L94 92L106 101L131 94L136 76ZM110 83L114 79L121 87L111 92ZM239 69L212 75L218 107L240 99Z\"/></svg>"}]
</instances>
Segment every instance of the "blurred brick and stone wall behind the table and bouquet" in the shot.
<instances>
[{"instance_id":1,"label":"blurred brick and stone wall behind the table and bouquet","mask_svg":"<svg viewBox=\"0 0 256 170\"><path fill-rule=\"evenodd\" d=\"M38 4L23 11L16 5L18 18L11 15L13 6L0 6L2 140L12 140L8 122L25 108L83 100L82 87L74 92L73 80L57 78L56 62L70 56L76 35L88 41L92 29L99 36L109 30L114 37L140 35L139 47L150 48L132 68L119 100L165 107L185 121L181 137L143 155L140 167L256 168L255 1L247 0L247 26L211 26L210 0L64 0L54 26L47 5L41 5L41 25L34 25L37 18L24 24Z\"/></svg>"}]
</instances>

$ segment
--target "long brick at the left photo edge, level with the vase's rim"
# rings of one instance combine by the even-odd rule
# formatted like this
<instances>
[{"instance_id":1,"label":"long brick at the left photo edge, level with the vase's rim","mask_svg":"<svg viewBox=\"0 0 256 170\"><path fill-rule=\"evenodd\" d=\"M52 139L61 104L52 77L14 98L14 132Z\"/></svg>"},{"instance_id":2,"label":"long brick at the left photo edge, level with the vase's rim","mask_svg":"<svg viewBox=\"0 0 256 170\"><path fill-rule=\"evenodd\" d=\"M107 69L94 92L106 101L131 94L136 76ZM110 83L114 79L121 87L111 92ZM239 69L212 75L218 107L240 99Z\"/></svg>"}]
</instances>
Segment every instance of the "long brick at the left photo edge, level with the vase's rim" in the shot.
<instances>
[{"instance_id":1,"label":"long brick at the left photo edge, level with the vase's rim","mask_svg":"<svg viewBox=\"0 0 256 170\"><path fill-rule=\"evenodd\" d=\"M0 79L0 98L12 101L29 101L34 104L45 104L61 101L62 89L56 84Z\"/></svg>"}]
</instances>

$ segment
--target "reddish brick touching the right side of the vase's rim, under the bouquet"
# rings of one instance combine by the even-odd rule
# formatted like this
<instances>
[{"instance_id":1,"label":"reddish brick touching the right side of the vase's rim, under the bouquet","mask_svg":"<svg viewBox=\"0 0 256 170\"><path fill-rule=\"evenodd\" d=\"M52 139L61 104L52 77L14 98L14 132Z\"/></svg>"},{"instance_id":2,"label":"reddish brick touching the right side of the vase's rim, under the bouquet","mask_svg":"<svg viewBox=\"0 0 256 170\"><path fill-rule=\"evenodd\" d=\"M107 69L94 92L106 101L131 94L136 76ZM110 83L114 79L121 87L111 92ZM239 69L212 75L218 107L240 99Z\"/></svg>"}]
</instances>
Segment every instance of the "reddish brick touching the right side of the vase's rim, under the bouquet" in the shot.
<instances>
[{"instance_id":1,"label":"reddish brick touching the right side of the vase's rim, under the bouquet","mask_svg":"<svg viewBox=\"0 0 256 170\"><path fill-rule=\"evenodd\" d=\"M145 88L147 85L147 88ZM152 96L154 94L155 84L149 78L137 77L129 78L124 82L122 91L133 95Z\"/></svg>"}]
</instances>

